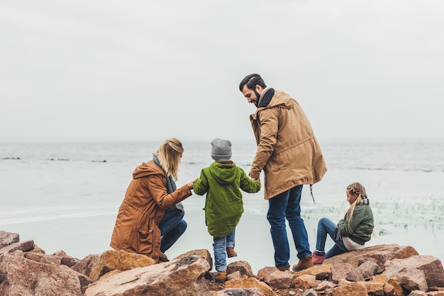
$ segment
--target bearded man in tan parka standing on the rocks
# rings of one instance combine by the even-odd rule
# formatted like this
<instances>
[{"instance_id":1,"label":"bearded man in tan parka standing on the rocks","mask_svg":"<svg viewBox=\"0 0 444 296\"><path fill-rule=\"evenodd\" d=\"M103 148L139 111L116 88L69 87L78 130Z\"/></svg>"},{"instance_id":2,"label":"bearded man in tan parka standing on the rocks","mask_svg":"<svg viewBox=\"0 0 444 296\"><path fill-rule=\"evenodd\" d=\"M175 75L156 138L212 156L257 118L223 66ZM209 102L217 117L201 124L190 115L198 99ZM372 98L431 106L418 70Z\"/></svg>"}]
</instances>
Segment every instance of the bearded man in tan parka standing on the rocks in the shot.
<instances>
[{"instance_id":1,"label":"bearded man in tan parka standing on the rocks","mask_svg":"<svg viewBox=\"0 0 444 296\"><path fill-rule=\"evenodd\" d=\"M260 172L265 172L265 200L268 200L267 220L274 246L274 265L280 271L289 270L287 218L299 258L293 271L309 268L313 261L301 218L301 191L303 184L321 181L327 171L321 148L309 119L287 93L267 87L259 74L245 76L240 81L239 90L248 103L257 107L250 115L257 151L249 176L259 180Z\"/></svg>"}]
</instances>

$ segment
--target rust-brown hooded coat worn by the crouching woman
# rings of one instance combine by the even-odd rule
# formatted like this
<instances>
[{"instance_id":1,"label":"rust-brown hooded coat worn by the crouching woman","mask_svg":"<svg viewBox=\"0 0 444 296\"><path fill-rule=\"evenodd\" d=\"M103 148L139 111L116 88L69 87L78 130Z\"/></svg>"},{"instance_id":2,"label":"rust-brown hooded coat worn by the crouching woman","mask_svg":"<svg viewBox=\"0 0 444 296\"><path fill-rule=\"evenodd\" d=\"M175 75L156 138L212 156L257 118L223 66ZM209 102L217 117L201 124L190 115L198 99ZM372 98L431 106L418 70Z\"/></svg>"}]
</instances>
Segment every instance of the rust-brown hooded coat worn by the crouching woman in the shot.
<instances>
[{"instance_id":1,"label":"rust-brown hooded coat worn by the crouching woman","mask_svg":"<svg viewBox=\"0 0 444 296\"><path fill-rule=\"evenodd\" d=\"M187 185L167 194L166 176L154 161L136 167L133 180L118 209L110 246L150 256L160 254L159 223L167 207L192 195Z\"/></svg>"}]
</instances>

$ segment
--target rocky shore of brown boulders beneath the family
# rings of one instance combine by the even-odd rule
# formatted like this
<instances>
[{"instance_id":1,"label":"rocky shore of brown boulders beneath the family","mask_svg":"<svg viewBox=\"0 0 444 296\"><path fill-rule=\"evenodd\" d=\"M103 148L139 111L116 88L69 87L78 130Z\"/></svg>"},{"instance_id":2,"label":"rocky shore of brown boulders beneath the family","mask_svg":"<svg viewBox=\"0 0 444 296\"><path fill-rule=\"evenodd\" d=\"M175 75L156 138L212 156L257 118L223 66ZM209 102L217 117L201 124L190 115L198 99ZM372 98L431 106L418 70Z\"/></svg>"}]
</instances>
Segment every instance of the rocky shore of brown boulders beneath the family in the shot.
<instances>
[{"instance_id":1,"label":"rocky shore of brown boulders beneath the family","mask_svg":"<svg viewBox=\"0 0 444 296\"><path fill-rule=\"evenodd\" d=\"M397 244L351 251L297 273L265 266L256 275L247 261L235 261L221 284L214 283L212 269L206 249L157 264L147 256L114 250L79 259L65 251L45 254L33 240L20 241L19 234L0 231L4 296L444 296L441 261Z\"/></svg>"}]
</instances>

